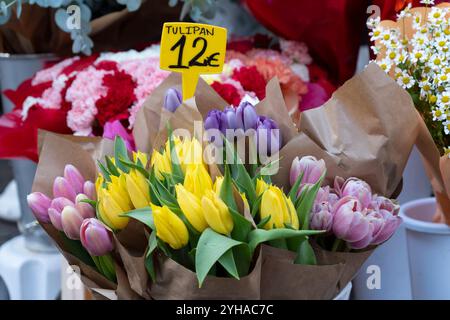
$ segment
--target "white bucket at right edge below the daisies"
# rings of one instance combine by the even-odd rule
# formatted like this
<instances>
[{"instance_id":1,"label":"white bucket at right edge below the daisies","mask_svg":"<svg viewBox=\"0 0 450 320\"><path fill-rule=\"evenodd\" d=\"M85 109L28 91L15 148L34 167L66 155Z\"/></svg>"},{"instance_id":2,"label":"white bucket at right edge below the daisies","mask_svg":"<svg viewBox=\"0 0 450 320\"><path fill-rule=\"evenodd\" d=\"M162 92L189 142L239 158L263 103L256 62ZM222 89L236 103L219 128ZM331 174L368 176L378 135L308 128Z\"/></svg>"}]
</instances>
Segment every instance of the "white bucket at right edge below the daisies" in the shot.
<instances>
[{"instance_id":1,"label":"white bucket at right edge below the daisies","mask_svg":"<svg viewBox=\"0 0 450 320\"><path fill-rule=\"evenodd\" d=\"M401 206L413 299L450 299L450 228L433 223L435 198Z\"/></svg>"}]
</instances>

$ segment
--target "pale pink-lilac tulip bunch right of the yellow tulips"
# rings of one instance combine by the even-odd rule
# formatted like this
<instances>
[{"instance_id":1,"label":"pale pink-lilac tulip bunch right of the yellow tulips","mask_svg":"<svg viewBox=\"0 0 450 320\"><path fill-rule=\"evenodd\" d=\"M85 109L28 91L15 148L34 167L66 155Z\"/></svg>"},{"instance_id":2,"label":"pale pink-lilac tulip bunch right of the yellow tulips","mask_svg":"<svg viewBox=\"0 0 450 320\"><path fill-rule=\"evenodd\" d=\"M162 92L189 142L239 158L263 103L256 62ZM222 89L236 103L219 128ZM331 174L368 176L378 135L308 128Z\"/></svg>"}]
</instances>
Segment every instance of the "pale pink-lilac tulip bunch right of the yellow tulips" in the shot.
<instances>
[{"instance_id":1,"label":"pale pink-lilac tulip bunch right of the yellow tulips","mask_svg":"<svg viewBox=\"0 0 450 320\"><path fill-rule=\"evenodd\" d=\"M325 170L323 160L311 156L296 158L290 171L291 184L301 176L302 193L317 183ZM334 188L319 188L309 224L314 230L326 230L327 234L318 237L325 248L363 249L381 244L394 234L401 223L398 211L399 206L392 200L372 194L366 182L336 177Z\"/></svg>"}]
</instances>

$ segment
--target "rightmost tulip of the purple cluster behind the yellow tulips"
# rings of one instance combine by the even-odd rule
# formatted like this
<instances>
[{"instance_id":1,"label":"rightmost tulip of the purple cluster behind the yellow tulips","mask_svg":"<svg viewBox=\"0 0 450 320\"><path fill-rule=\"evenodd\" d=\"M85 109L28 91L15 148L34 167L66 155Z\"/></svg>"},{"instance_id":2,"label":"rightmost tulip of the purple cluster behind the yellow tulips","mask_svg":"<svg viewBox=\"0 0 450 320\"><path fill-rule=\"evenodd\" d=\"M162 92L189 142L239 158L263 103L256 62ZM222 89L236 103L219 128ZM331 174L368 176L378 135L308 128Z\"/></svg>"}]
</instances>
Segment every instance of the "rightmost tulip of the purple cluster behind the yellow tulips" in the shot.
<instances>
[{"instance_id":1,"label":"rightmost tulip of the purple cluster behind the yellow tulips","mask_svg":"<svg viewBox=\"0 0 450 320\"><path fill-rule=\"evenodd\" d=\"M272 155L281 146L281 135L278 125L270 118L260 116L256 126L257 148L260 156Z\"/></svg>"}]
</instances>

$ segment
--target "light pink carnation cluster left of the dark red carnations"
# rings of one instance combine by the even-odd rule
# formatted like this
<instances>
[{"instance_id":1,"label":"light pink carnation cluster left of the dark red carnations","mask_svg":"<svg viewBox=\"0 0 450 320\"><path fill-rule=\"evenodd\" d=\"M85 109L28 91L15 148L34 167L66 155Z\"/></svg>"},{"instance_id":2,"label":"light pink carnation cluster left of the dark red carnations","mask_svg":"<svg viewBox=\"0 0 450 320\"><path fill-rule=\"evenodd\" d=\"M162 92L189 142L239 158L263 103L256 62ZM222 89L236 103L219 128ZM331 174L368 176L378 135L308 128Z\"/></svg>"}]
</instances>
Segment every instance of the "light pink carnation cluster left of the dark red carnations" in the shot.
<instances>
[{"instance_id":1,"label":"light pink carnation cluster left of the dark red carnations","mask_svg":"<svg viewBox=\"0 0 450 320\"><path fill-rule=\"evenodd\" d=\"M72 109L67 114L67 125L75 134L89 135L97 114L95 102L106 95L107 88L103 86L103 77L111 71L98 70L90 66L81 71L66 93L66 100L72 103Z\"/></svg>"}]
</instances>

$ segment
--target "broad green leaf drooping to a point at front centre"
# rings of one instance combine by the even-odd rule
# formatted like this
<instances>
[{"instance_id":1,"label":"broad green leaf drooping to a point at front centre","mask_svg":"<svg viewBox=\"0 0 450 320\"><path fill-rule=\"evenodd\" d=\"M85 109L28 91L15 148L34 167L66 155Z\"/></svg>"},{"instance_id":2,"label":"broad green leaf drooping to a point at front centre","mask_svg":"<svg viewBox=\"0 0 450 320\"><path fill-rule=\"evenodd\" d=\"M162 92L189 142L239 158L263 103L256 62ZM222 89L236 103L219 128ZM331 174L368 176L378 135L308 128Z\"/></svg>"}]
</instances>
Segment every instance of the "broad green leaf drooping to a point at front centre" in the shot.
<instances>
[{"instance_id":1,"label":"broad green leaf drooping to a point at front centre","mask_svg":"<svg viewBox=\"0 0 450 320\"><path fill-rule=\"evenodd\" d=\"M195 252L195 270L199 287L202 286L209 270L220 257L231 248L241 244L242 242L218 234L210 228L203 231Z\"/></svg>"}]
</instances>

